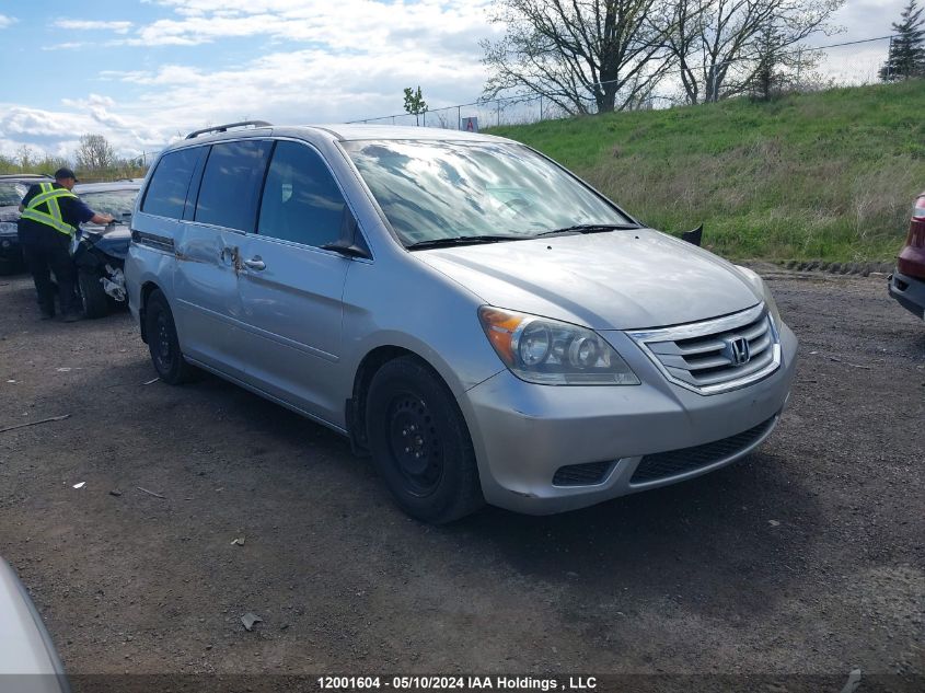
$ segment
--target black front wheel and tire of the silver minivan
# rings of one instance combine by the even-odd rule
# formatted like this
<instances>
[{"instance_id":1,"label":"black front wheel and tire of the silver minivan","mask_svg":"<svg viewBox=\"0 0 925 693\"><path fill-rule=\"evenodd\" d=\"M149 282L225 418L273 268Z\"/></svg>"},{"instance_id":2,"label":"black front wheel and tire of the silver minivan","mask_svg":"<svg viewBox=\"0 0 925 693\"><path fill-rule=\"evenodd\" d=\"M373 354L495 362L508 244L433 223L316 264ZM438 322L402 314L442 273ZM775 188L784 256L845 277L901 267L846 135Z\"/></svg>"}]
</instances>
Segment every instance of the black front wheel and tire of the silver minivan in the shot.
<instances>
[{"instance_id":1,"label":"black front wheel and tire of the silver minivan","mask_svg":"<svg viewBox=\"0 0 925 693\"><path fill-rule=\"evenodd\" d=\"M366 421L373 464L405 512L442 524L485 503L462 413L421 361L402 357L373 376Z\"/></svg>"}]
</instances>

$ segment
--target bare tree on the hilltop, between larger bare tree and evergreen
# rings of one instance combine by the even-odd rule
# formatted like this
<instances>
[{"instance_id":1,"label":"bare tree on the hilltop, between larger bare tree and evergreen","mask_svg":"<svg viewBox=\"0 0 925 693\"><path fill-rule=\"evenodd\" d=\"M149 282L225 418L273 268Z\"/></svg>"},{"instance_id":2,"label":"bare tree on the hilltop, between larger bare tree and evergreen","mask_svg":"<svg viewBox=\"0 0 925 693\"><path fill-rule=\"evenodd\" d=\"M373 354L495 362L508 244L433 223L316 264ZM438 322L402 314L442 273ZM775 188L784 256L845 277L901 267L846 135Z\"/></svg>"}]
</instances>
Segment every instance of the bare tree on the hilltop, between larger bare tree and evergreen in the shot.
<instances>
[{"instance_id":1,"label":"bare tree on the hilltop, between larger bare tree and evergreen","mask_svg":"<svg viewBox=\"0 0 925 693\"><path fill-rule=\"evenodd\" d=\"M677 0L669 46L681 68L687 103L719 101L753 89L782 67L800 68L796 48L831 34L844 0Z\"/></svg>"}]
</instances>

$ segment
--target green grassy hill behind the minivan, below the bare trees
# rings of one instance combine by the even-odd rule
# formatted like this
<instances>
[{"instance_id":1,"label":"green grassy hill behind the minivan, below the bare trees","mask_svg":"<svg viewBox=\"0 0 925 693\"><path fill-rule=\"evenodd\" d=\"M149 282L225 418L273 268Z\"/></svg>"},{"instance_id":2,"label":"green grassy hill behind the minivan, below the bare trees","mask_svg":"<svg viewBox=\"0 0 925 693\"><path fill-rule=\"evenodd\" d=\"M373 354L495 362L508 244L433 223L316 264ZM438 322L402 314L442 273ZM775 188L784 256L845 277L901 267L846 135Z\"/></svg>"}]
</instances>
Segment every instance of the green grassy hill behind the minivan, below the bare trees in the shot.
<instances>
[{"instance_id":1,"label":"green grassy hill behind the minivan, below the bare trees","mask_svg":"<svg viewBox=\"0 0 925 693\"><path fill-rule=\"evenodd\" d=\"M925 81L493 128L735 258L886 261L925 189Z\"/></svg>"}]
</instances>

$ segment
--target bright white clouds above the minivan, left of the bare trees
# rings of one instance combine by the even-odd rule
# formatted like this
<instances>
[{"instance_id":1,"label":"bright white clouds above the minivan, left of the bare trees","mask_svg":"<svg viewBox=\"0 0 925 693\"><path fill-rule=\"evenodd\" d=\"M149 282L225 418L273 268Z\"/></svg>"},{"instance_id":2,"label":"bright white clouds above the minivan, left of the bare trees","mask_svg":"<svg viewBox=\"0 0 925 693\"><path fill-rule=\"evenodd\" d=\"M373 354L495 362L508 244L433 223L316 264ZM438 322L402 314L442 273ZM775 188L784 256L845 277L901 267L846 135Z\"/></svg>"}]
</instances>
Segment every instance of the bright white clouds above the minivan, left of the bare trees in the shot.
<instances>
[{"instance_id":1,"label":"bright white clouds above the minivan, left of the bare trees","mask_svg":"<svg viewBox=\"0 0 925 693\"><path fill-rule=\"evenodd\" d=\"M233 8L227 0L147 0L171 14L149 24L59 20L71 32L116 32L104 45L137 47L126 55L138 57L101 66L88 76L95 85L86 92L96 95L62 100L58 108L0 104L0 131L53 153L99 132L134 155L244 117L336 123L402 113L409 85L420 84L431 107L474 100L486 77L478 41L497 31L485 14L489 1L251 0ZM86 45L73 37L56 48ZM241 38L266 50L229 62L233 54L221 53L222 43ZM203 44L211 46L195 48ZM182 61L151 67L143 48L153 46L190 48L177 54Z\"/></svg>"}]
</instances>

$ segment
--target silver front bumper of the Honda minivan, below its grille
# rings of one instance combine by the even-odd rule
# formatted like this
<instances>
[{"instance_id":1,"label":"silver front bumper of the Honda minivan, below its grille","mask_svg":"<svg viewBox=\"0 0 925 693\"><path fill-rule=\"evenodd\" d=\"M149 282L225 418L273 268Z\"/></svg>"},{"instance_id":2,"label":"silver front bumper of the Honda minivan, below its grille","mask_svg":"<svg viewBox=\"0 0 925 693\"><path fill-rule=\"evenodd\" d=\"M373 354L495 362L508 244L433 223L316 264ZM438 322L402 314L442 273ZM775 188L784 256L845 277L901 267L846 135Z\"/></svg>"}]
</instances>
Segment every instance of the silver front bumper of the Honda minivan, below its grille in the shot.
<instances>
[{"instance_id":1,"label":"silver front bumper of the Honda minivan, below its grille","mask_svg":"<svg viewBox=\"0 0 925 693\"><path fill-rule=\"evenodd\" d=\"M466 393L461 405L488 503L531 515L560 512L733 462L776 425L794 378L797 339L783 325L781 367L713 395L669 383L628 337L615 346L641 385L535 385L505 370ZM657 454L670 451L681 453ZM563 474L574 465L587 466ZM600 470L600 478L576 484L586 470Z\"/></svg>"}]
</instances>

